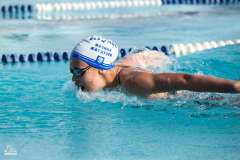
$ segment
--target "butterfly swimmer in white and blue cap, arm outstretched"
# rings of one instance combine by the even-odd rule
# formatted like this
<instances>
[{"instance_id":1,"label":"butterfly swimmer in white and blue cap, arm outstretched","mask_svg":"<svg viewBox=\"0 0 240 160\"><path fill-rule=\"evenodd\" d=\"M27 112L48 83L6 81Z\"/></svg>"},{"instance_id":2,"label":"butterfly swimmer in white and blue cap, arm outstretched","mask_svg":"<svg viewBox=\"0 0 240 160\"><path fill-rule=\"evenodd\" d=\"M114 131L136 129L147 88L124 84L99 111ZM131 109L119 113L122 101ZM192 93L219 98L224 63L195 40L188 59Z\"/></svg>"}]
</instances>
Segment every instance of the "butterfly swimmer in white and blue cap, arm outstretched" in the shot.
<instances>
[{"instance_id":1,"label":"butterfly swimmer in white and blue cap, arm outstretched","mask_svg":"<svg viewBox=\"0 0 240 160\"><path fill-rule=\"evenodd\" d=\"M118 48L111 40L88 37L78 43L71 53L72 81L83 91L121 86L130 94L154 98L163 98L181 90L240 93L240 81L185 73L153 73L137 67L150 57L154 60L160 55L150 52L155 51L126 56L116 62ZM157 62L153 62L156 65Z\"/></svg>"}]
</instances>

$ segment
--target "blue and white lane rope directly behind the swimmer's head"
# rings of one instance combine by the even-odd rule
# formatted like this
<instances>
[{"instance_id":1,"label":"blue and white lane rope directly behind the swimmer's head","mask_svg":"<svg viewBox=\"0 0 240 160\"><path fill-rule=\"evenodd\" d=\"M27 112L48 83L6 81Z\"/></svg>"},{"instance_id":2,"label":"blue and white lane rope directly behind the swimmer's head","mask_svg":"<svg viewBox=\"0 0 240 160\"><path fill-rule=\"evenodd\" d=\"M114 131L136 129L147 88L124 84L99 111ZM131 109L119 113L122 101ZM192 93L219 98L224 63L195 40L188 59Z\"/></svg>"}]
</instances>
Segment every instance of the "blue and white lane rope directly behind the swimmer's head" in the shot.
<instances>
[{"instance_id":1,"label":"blue and white lane rope directly behind the swimmer's head","mask_svg":"<svg viewBox=\"0 0 240 160\"><path fill-rule=\"evenodd\" d=\"M163 53L168 56L182 57L195 53L199 53L201 51L210 50L214 48L220 48L230 45L239 45L240 39L235 40L220 40L220 41L205 41L201 43L179 43L172 45L161 45L145 48L149 50L160 51L159 53ZM133 48L120 48L120 57L124 57L127 54L131 53ZM68 52L38 52L36 54L2 54L0 55L0 62L2 64L16 64L16 63L34 63L34 62L59 62L59 61L68 61L69 60Z\"/></svg>"}]
</instances>

